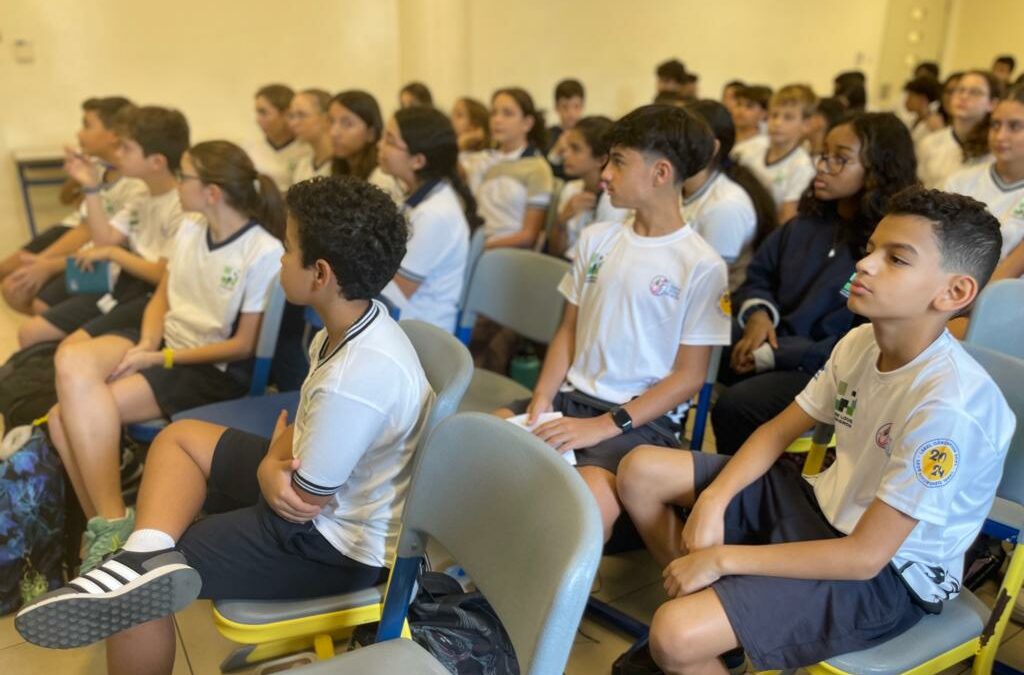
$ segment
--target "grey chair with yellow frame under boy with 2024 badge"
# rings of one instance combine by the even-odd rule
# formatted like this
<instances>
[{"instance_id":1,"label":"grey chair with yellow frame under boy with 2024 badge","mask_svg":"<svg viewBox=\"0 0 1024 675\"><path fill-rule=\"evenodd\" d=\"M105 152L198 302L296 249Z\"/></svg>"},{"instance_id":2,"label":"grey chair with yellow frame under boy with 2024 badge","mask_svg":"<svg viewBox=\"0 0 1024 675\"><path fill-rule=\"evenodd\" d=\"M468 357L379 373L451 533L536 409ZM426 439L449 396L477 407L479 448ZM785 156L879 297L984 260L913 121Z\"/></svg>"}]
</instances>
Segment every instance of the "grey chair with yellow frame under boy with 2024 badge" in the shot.
<instances>
[{"instance_id":1,"label":"grey chair with yellow frame under boy with 2024 badge","mask_svg":"<svg viewBox=\"0 0 1024 675\"><path fill-rule=\"evenodd\" d=\"M965 345L999 385L1017 416L1017 430L996 491L995 503L982 532L1014 545L1010 565L989 609L964 589L944 602L942 614L929 615L902 635L877 647L847 653L807 668L807 672L895 675L939 673L967 659L974 659L972 673L993 672L995 653L1010 622L1014 602L1024 580L1024 553L1019 538L1024 528L1024 361L973 344ZM995 672L1015 672L1005 666Z\"/></svg>"}]
</instances>

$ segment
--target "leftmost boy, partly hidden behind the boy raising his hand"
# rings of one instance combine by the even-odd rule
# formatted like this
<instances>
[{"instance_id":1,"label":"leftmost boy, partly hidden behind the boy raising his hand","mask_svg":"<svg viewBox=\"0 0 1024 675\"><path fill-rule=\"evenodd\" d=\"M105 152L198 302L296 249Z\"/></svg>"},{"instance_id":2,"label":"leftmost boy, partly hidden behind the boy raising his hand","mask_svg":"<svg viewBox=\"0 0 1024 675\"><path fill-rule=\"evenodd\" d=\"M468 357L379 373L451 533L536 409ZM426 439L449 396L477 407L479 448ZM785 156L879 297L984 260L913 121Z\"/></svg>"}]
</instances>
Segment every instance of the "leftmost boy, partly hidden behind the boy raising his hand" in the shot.
<instances>
[{"instance_id":1,"label":"leftmost boy, partly hidden behind the boy raising his hand","mask_svg":"<svg viewBox=\"0 0 1024 675\"><path fill-rule=\"evenodd\" d=\"M82 103L82 128L78 150L100 170L100 200L108 215L146 194L145 183L122 175L118 166L120 138L114 131L117 115L133 108L123 96L88 98ZM81 186L72 181L77 191ZM79 195L81 196L81 195ZM20 251L0 261L3 296L11 308L24 313L38 313L65 297L65 259L89 241L84 201L74 212L29 242ZM54 284L48 284L57 277ZM43 292L43 289L46 289ZM33 303L37 294L40 303ZM34 311L35 304L35 311Z\"/></svg>"}]
</instances>

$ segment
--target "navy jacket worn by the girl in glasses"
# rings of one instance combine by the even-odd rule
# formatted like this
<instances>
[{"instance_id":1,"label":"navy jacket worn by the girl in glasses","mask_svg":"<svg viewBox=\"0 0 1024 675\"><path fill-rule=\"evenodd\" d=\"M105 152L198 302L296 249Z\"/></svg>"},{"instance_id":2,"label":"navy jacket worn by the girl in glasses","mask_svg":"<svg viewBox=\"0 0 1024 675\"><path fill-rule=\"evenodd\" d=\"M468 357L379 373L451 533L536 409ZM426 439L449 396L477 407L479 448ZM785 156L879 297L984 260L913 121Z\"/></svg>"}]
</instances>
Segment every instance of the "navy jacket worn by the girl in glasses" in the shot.
<instances>
[{"instance_id":1,"label":"navy jacket worn by the girl in glasses","mask_svg":"<svg viewBox=\"0 0 1024 675\"><path fill-rule=\"evenodd\" d=\"M864 321L846 307L857 258L850 245L838 242L840 226L838 219L798 215L765 239L735 293L733 342L742 335L744 304L774 309L777 371L817 372L839 339Z\"/></svg>"}]
</instances>

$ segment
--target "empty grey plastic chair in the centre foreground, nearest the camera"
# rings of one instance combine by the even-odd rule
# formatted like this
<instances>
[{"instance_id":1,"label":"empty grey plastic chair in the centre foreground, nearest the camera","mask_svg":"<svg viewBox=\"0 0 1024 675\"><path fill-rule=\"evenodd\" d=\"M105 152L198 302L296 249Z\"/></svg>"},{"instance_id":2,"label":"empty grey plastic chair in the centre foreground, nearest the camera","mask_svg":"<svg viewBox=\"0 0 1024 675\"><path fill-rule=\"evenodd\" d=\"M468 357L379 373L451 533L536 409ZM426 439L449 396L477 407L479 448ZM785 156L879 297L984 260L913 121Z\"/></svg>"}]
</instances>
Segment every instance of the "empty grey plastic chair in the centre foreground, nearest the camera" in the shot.
<instances>
[{"instance_id":1,"label":"empty grey plastic chair in the centre foreground, nearest the camera","mask_svg":"<svg viewBox=\"0 0 1024 675\"><path fill-rule=\"evenodd\" d=\"M441 422L419 457L377 643L296 673L446 675L425 649L396 639L428 539L494 606L520 672L563 672L601 555L594 498L530 433L463 414Z\"/></svg>"}]
</instances>

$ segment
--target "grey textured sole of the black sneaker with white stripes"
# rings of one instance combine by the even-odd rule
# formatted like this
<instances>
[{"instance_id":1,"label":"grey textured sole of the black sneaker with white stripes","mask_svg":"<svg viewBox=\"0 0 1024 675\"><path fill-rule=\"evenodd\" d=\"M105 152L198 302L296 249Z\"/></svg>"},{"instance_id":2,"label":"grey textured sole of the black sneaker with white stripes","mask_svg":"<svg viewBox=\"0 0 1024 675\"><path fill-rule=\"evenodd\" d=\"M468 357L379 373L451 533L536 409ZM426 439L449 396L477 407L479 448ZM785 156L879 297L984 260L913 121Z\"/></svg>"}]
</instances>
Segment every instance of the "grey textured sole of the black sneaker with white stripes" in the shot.
<instances>
[{"instance_id":1,"label":"grey textured sole of the black sneaker with white stripes","mask_svg":"<svg viewBox=\"0 0 1024 675\"><path fill-rule=\"evenodd\" d=\"M30 605L14 618L14 628L42 647L80 647L180 611L201 587L196 569L169 564L103 595L68 593Z\"/></svg>"}]
</instances>

